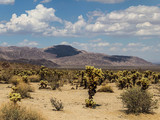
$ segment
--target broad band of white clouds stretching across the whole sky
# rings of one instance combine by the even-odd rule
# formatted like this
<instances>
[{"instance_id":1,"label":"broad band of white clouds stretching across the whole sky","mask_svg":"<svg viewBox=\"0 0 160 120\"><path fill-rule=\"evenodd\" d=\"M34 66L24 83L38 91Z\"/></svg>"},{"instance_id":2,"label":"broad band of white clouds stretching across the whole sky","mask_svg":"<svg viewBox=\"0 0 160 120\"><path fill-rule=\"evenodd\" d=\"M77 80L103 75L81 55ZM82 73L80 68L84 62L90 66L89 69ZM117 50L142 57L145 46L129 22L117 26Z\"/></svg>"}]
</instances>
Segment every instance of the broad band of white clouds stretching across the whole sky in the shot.
<instances>
[{"instance_id":1,"label":"broad band of white clouds stretching across the whole sky","mask_svg":"<svg viewBox=\"0 0 160 120\"><path fill-rule=\"evenodd\" d=\"M12 15L10 21L0 22L0 34L32 34L41 36L132 36L160 37L160 8L156 6L131 6L110 13L93 11L88 19L79 15L76 22L62 20L54 8L42 4L25 14ZM56 24L56 23L60 24Z\"/></svg>"}]
</instances>

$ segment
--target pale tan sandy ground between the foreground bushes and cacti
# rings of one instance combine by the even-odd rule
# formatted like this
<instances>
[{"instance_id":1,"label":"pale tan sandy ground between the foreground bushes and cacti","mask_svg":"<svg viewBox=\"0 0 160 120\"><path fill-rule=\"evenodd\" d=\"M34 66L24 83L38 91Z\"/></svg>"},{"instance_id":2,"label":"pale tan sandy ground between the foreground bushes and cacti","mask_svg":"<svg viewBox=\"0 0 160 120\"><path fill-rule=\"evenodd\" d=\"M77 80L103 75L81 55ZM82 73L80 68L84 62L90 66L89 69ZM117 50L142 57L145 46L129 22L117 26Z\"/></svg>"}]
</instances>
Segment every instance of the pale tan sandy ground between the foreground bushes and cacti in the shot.
<instances>
[{"instance_id":1,"label":"pale tan sandy ground between the foreground bushes and cacti","mask_svg":"<svg viewBox=\"0 0 160 120\"><path fill-rule=\"evenodd\" d=\"M33 99L23 99L21 103L39 111L47 120L160 120L160 108L155 110L153 114L126 114L125 108L119 99L122 90L118 90L114 83L114 93L96 93L94 101L99 104L96 109L85 107L85 99L88 98L87 90L79 88L71 90L70 85L64 85L59 90L38 89L38 83L31 84L35 88L35 92L31 93ZM6 84L0 84L0 105L9 101L7 98L11 92ZM151 86L152 92L160 101L160 93ZM150 88L150 89L151 89ZM50 98L55 97L64 104L63 111L55 111L50 103ZM160 103L160 102L159 102Z\"/></svg>"}]
</instances>

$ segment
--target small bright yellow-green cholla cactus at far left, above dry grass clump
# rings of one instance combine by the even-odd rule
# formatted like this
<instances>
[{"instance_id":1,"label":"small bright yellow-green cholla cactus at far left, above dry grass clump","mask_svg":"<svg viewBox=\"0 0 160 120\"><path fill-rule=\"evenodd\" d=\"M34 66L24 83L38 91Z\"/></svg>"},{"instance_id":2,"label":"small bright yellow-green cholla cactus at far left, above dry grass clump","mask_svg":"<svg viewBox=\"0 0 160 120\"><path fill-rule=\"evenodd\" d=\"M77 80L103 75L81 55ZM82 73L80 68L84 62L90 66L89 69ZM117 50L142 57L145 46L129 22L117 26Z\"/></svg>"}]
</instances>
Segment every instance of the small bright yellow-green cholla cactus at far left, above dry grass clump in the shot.
<instances>
[{"instance_id":1,"label":"small bright yellow-green cholla cactus at far left, above dry grass clump","mask_svg":"<svg viewBox=\"0 0 160 120\"><path fill-rule=\"evenodd\" d=\"M21 101L22 97L19 93L10 93L9 95L10 101L16 104L18 101Z\"/></svg>"}]
</instances>

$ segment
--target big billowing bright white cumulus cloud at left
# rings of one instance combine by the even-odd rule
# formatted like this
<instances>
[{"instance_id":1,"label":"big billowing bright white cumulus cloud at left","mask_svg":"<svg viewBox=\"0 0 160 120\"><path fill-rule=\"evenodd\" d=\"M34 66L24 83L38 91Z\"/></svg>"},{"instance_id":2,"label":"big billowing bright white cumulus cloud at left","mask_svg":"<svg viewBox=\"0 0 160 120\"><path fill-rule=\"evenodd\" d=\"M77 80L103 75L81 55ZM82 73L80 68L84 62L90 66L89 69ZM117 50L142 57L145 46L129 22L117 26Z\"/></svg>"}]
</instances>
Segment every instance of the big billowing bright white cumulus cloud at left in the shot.
<instances>
[{"instance_id":1,"label":"big billowing bright white cumulus cloud at left","mask_svg":"<svg viewBox=\"0 0 160 120\"><path fill-rule=\"evenodd\" d=\"M50 23L62 22L54 13L53 8L39 4L35 9L26 11L26 14L13 14L9 22L0 24L0 34L43 34L49 29Z\"/></svg>"}]
</instances>

